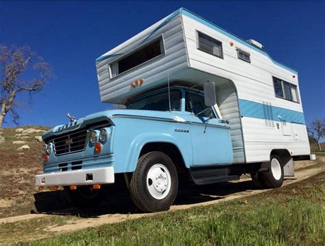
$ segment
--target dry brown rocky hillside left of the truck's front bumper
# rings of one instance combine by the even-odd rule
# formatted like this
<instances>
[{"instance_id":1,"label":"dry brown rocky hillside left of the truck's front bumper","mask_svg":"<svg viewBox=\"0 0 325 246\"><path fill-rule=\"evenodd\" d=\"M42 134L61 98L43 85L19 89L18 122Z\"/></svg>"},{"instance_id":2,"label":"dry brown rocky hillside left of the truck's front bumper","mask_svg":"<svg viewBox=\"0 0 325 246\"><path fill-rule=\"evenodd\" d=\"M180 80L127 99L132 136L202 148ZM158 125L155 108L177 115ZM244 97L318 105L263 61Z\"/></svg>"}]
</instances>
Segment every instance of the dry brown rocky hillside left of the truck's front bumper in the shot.
<instances>
[{"instance_id":1,"label":"dry brown rocky hillside left of the truck's front bumper","mask_svg":"<svg viewBox=\"0 0 325 246\"><path fill-rule=\"evenodd\" d=\"M21 131L17 128L3 128L5 142L0 144L0 218L29 214L31 210L36 209L34 194L36 197L41 194L34 186L34 175L42 172L43 142L37 136L42 135L48 127L24 126L22 128ZM26 133L30 128L38 132L31 133L32 130L29 130ZM29 146L29 149L19 150L25 145ZM51 201L42 203L48 205ZM36 203L36 205L41 207L41 204Z\"/></svg>"}]
</instances>

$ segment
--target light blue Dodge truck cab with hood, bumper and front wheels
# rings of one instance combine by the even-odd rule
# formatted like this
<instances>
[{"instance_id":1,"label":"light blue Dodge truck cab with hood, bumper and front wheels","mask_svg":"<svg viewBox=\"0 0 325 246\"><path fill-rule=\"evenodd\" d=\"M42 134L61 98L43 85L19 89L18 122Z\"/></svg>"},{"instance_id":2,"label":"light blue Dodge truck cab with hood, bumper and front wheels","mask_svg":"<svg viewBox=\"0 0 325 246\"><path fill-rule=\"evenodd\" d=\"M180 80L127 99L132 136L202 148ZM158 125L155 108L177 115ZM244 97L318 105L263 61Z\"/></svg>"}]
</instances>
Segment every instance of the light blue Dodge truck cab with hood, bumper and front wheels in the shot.
<instances>
[{"instance_id":1,"label":"light blue Dodge truck cab with hood, bumper and front wheels","mask_svg":"<svg viewBox=\"0 0 325 246\"><path fill-rule=\"evenodd\" d=\"M141 210L168 209L177 194L177 169L232 164L230 126L207 98L199 89L167 87L130 100L123 110L50 129L36 186L64 186L76 205L95 205L123 173Z\"/></svg>"}]
</instances>

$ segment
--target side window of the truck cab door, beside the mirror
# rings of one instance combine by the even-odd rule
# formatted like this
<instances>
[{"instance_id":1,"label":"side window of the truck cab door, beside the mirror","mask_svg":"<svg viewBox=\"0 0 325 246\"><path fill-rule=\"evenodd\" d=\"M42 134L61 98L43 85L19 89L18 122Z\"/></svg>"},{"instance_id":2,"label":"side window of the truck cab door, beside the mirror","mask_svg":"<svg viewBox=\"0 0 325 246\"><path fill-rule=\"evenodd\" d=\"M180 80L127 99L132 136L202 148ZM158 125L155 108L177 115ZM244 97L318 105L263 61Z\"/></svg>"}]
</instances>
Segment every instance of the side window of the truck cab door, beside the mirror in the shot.
<instances>
[{"instance_id":1,"label":"side window of the truck cab door, beside the mirror","mask_svg":"<svg viewBox=\"0 0 325 246\"><path fill-rule=\"evenodd\" d=\"M212 109L204 104L204 96L196 93L186 92L185 111L194 113L199 117L210 117L212 115L212 118L216 118Z\"/></svg>"}]
</instances>

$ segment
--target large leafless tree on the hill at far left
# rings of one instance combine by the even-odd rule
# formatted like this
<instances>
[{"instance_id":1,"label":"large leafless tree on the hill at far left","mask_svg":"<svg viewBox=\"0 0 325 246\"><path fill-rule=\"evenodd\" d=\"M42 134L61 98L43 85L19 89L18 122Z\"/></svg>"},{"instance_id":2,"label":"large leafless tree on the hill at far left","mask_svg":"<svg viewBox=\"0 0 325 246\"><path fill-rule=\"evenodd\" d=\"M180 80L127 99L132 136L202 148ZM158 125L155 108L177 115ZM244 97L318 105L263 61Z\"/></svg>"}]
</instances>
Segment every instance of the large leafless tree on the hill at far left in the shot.
<instances>
[{"instance_id":1,"label":"large leafless tree on the hill at far left","mask_svg":"<svg viewBox=\"0 0 325 246\"><path fill-rule=\"evenodd\" d=\"M49 64L28 46L7 47L0 44L0 128L9 112L17 124L19 114L14 109L18 106L15 101L17 94L27 92L32 98L32 93L42 91L45 82L52 76Z\"/></svg>"}]
</instances>

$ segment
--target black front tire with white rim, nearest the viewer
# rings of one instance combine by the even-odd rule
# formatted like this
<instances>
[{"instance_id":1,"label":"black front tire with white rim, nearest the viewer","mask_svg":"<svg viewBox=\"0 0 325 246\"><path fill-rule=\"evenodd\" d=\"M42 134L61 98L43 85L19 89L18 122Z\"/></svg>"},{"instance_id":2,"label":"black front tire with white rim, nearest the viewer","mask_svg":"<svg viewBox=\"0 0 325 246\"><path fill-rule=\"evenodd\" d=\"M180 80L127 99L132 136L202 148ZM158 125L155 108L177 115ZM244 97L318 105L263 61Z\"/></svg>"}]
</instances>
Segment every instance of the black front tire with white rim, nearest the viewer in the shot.
<instances>
[{"instance_id":1,"label":"black front tire with white rim, nearest the viewer","mask_svg":"<svg viewBox=\"0 0 325 246\"><path fill-rule=\"evenodd\" d=\"M132 201L143 212L169 210L178 192L178 174L168 155L154 151L143 155L130 181Z\"/></svg>"}]
</instances>

